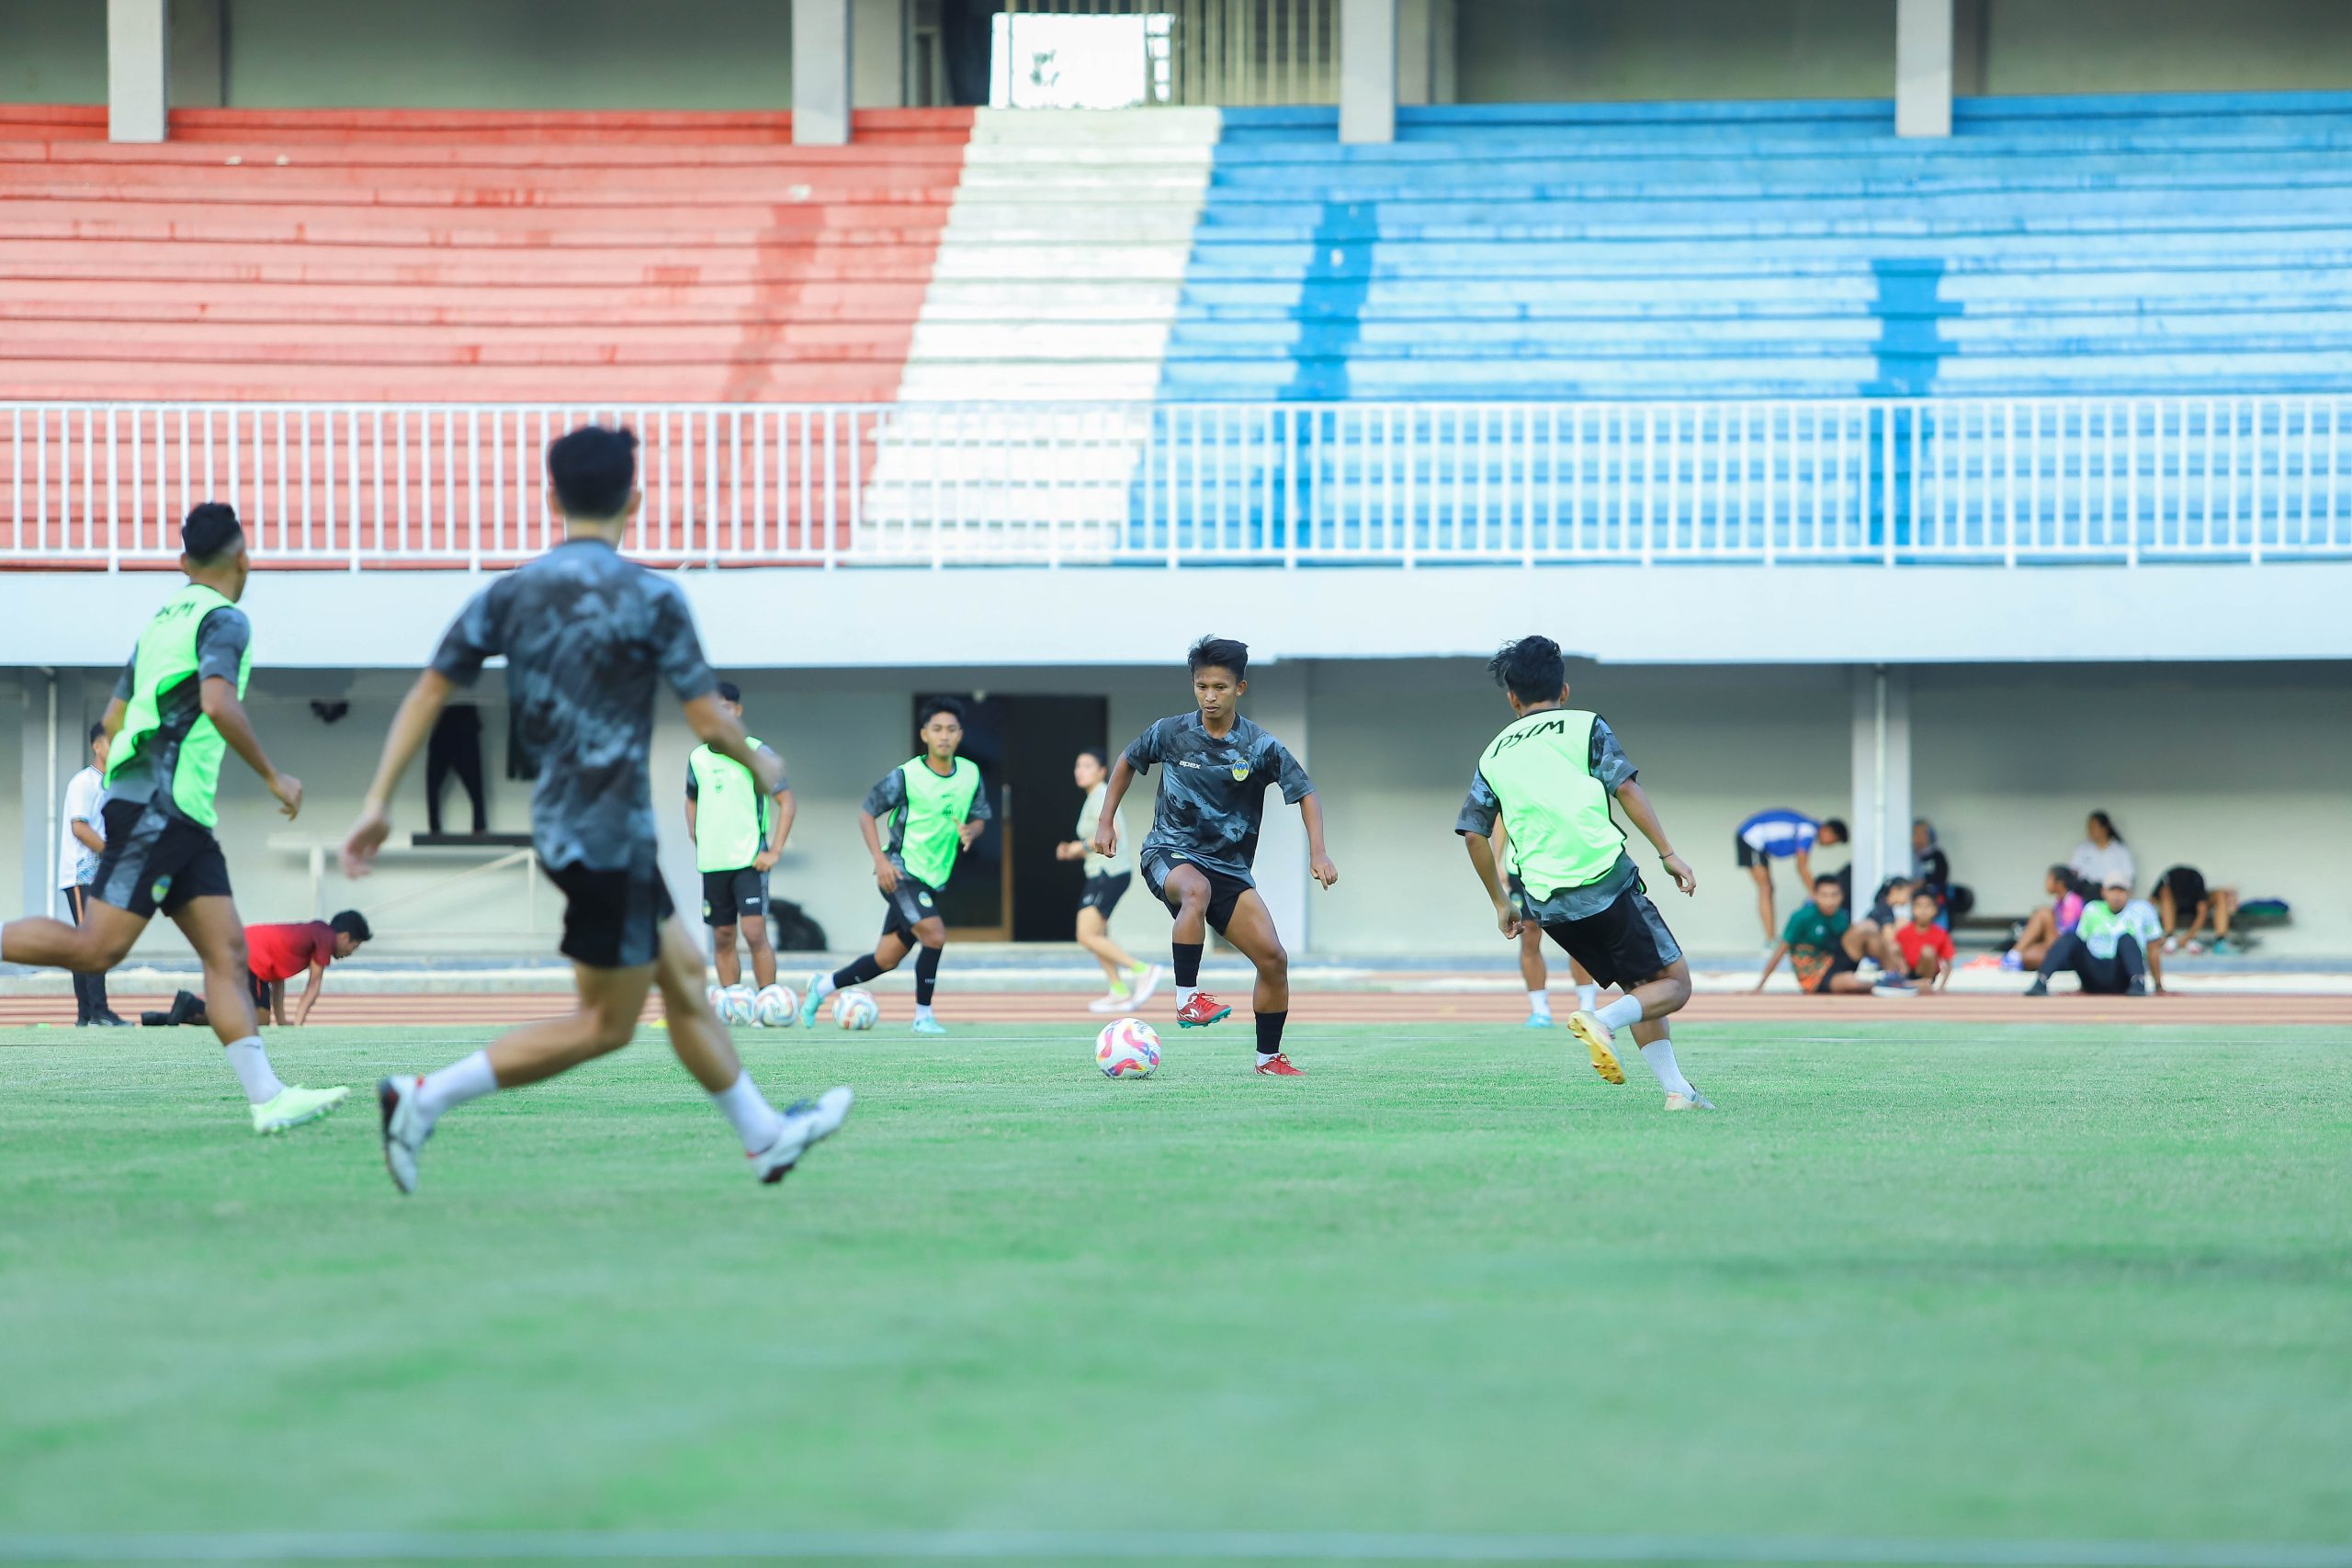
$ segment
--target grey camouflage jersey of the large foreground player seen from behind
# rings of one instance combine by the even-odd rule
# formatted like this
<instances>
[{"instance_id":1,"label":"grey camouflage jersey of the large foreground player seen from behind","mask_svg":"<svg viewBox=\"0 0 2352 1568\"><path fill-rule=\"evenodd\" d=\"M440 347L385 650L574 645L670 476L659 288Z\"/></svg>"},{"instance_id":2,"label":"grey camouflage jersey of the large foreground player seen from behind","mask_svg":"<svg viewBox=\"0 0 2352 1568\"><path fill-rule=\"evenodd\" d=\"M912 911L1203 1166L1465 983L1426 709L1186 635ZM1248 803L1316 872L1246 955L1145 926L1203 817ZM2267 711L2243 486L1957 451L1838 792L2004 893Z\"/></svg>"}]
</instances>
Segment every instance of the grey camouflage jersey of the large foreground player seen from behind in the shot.
<instances>
[{"instance_id":1,"label":"grey camouflage jersey of the large foreground player seen from behind","mask_svg":"<svg viewBox=\"0 0 2352 1568\"><path fill-rule=\"evenodd\" d=\"M687 595L600 538L569 538L477 592L433 670L470 686L494 654L506 654L517 733L539 757L539 860L652 875L654 698L661 686L682 703L717 686Z\"/></svg>"}]
</instances>

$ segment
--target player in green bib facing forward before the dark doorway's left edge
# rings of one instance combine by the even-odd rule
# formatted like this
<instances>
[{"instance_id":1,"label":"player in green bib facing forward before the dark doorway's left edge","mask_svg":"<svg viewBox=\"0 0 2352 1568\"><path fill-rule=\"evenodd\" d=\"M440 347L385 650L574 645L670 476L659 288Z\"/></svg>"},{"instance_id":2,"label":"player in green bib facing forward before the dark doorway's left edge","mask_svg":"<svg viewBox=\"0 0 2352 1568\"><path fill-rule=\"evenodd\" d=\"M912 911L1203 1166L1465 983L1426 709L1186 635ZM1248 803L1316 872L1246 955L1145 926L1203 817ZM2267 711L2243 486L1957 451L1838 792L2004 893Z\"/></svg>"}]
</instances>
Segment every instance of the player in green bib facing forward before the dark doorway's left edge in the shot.
<instances>
[{"instance_id":1,"label":"player in green bib facing forward before the dark doorway's left edge","mask_svg":"<svg viewBox=\"0 0 2352 1568\"><path fill-rule=\"evenodd\" d=\"M816 1006L844 985L866 985L887 976L915 954L915 1032L946 1034L948 1025L931 1016L931 992L938 987L938 959L948 950L948 922L938 914L938 889L948 886L955 858L971 849L993 816L981 769L957 757L964 743L964 705L936 696L915 715L922 755L894 766L866 792L858 806L858 832L875 858L875 886L882 889L882 940L875 950L828 973L809 976L800 999L800 1023L816 1023ZM882 844L882 818L889 818L889 844Z\"/></svg>"}]
</instances>

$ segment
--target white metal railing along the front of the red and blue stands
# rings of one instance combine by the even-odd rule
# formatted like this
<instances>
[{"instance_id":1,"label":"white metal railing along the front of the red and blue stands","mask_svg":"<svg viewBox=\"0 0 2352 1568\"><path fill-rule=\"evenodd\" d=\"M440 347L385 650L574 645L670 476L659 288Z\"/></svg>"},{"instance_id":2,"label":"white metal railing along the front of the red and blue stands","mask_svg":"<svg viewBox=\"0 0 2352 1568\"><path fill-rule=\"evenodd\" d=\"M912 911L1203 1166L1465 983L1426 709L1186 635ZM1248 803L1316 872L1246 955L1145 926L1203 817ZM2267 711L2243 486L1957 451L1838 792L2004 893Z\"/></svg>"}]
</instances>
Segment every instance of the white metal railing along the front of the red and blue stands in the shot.
<instances>
[{"instance_id":1,"label":"white metal railing along the front of the red and blue stands","mask_svg":"<svg viewBox=\"0 0 2352 1568\"><path fill-rule=\"evenodd\" d=\"M546 442L630 423L656 564L2044 562L2352 555L2352 397L7 404L0 567L553 543Z\"/></svg>"}]
</instances>

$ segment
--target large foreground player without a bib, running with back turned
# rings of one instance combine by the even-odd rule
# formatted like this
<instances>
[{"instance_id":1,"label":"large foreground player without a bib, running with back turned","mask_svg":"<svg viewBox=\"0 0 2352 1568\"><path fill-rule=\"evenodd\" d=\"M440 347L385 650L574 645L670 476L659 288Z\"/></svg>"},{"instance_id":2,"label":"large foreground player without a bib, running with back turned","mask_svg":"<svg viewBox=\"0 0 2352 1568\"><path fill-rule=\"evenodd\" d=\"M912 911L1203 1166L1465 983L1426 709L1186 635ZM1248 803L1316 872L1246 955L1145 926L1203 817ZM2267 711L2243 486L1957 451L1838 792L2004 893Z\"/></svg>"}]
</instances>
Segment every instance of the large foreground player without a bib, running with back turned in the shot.
<instances>
[{"instance_id":1,"label":"large foreground player without a bib, running with back turned","mask_svg":"<svg viewBox=\"0 0 2352 1568\"><path fill-rule=\"evenodd\" d=\"M393 717L360 820L343 839L343 875L367 875L393 832L393 790L442 705L473 686L485 661L506 654L506 689L522 729L539 738L532 846L564 893L562 954L572 959L579 1006L508 1030L440 1072L376 1084L383 1166L400 1192L416 1192L416 1157L447 1112L619 1051L656 985L670 1048L734 1124L762 1182L783 1180L849 1117L847 1088L783 1112L760 1095L710 1011L703 952L661 882L647 773L661 686L684 705L687 726L764 790L783 785L783 764L771 750L753 750L720 708L684 592L621 559L621 536L642 503L637 437L628 430L583 425L548 447L548 508L564 522L564 541L496 578L449 623L433 665Z\"/></svg>"}]
</instances>

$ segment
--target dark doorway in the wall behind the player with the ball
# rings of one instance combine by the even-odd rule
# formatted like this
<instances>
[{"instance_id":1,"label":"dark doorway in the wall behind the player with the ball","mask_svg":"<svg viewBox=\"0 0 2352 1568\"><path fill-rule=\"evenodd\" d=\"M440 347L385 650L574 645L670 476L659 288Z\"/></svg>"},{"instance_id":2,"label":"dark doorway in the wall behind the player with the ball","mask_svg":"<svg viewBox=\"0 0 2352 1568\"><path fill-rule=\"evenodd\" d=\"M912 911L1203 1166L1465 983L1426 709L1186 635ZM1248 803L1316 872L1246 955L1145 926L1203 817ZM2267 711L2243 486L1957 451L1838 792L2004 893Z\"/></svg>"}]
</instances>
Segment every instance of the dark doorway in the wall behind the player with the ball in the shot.
<instances>
[{"instance_id":1,"label":"dark doorway in the wall behind the player with the ball","mask_svg":"<svg viewBox=\"0 0 2352 1568\"><path fill-rule=\"evenodd\" d=\"M964 703L964 757L981 769L995 820L957 863L941 893L948 931L983 943L1065 943L1084 872L1054 846L1077 830L1082 802L1070 764L1110 733L1110 698L931 696Z\"/></svg>"}]
</instances>

